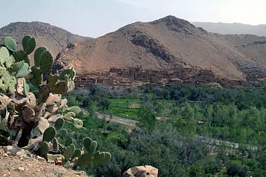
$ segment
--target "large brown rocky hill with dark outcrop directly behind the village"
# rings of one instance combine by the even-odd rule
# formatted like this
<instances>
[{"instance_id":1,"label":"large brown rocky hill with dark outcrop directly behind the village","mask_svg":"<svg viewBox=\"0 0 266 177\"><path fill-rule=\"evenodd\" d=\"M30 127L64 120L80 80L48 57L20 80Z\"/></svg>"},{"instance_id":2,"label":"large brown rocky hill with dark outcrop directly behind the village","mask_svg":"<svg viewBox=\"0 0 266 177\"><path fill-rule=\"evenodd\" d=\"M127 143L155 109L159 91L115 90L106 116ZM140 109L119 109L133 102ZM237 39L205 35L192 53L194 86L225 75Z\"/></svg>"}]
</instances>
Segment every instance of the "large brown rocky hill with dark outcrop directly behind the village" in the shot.
<instances>
[{"instance_id":1,"label":"large brown rocky hill with dark outcrop directly behind the village","mask_svg":"<svg viewBox=\"0 0 266 177\"><path fill-rule=\"evenodd\" d=\"M245 80L238 63L256 64L259 60L264 64L264 41L265 37L254 35L207 32L184 19L168 16L148 23L136 22L69 46L57 56L55 67L74 66L78 73L128 66L152 70L200 68L229 80Z\"/></svg>"}]
</instances>

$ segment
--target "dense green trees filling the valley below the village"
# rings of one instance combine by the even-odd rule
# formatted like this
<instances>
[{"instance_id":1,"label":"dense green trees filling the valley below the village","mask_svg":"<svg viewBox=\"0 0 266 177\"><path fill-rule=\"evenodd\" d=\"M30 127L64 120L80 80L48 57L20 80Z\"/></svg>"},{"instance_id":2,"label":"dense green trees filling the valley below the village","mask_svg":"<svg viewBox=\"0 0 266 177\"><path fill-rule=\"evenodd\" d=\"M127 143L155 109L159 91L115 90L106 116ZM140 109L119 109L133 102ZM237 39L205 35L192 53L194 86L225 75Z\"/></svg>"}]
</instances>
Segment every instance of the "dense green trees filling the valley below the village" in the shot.
<instances>
[{"instance_id":1,"label":"dense green trees filling the valley below the village","mask_svg":"<svg viewBox=\"0 0 266 177\"><path fill-rule=\"evenodd\" d=\"M159 176L266 176L265 89L94 86L65 96L89 113L82 118L87 130L77 136L89 133L100 150L112 153L107 165L87 167L89 174L121 176L130 167L153 165ZM132 131L95 118L96 111L109 108L109 99L119 97L141 100ZM214 146L202 138L224 142Z\"/></svg>"}]
</instances>

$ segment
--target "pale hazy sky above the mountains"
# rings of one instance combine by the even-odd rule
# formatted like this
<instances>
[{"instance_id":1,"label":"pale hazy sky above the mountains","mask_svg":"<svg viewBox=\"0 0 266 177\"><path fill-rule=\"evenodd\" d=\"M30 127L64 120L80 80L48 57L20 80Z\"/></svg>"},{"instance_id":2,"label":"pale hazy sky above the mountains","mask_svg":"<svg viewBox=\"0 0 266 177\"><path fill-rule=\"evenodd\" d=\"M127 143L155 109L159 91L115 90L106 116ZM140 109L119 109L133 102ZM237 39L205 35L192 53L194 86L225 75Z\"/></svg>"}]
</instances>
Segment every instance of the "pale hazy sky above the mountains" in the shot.
<instances>
[{"instance_id":1,"label":"pale hazy sky above the mountains","mask_svg":"<svg viewBox=\"0 0 266 177\"><path fill-rule=\"evenodd\" d=\"M266 24L266 0L1 0L1 7L0 28L15 21L43 21L89 37L167 15L188 21Z\"/></svg>"}]
</instances>

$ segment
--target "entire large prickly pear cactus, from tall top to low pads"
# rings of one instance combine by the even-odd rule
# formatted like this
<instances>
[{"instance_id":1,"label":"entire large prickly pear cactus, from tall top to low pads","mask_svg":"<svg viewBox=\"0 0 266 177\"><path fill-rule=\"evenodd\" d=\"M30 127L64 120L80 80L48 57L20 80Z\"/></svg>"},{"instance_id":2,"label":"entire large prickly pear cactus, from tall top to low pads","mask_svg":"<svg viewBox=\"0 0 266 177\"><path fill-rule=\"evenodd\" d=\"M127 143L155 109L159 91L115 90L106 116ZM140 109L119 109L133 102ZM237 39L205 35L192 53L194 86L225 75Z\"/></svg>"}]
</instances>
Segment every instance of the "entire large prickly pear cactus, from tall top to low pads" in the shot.
<instances>
[{"instance_id":1,"label":"entire large prickly pear cactus, from tall top to low pads","mask_svg":"<svg viewBox=\"0 0 266 177\"><path fill-rule=\"evenodd\" d=\"M0 145L8 144L11 141L10 131L15 130L16 135L21 131L18 146L25 147L31 131L37 127L43 135L43 142L39 145L42 156L55 156L48 154L51 150L48 143L53 141L53 149L62 153L56 156L64 156L66 162L78 158L76 166L90 161L107 162L109 153L95 152L95 142L89 142L90 149L85 145L85 153L72 143L65 147L57 142L56 131L62 128L64 120L72 122L78 129L83 126L82 120L75 118L80 108L68 107L67 100L62 99L61 95L73 90L76 72L69 68L53 75L53 56L45 47L35 50L33 37L25 36L22 46L23 50L17 50L17 43L11 37L5 37L3 44L0 44ZM34 65L30 64L31 53Z\"/></svg>"}]
</instances>

